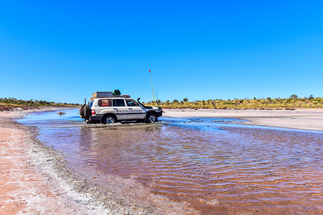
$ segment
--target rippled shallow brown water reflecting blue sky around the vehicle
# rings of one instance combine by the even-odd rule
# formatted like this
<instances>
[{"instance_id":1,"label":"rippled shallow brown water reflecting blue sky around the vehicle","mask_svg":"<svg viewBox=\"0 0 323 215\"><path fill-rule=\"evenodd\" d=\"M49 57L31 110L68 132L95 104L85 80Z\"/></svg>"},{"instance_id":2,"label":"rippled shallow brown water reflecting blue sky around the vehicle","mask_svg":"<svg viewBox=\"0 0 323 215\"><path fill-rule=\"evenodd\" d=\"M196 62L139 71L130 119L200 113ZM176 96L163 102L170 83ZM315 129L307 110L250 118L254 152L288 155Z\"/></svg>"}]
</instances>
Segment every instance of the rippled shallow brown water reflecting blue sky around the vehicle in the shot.
<instances>
[{"instance_id":1,"label":"rippled shallow brown water reflecting blue sky around the vehicle","mask_svg":"<svg viewBox=\"0 0 323 215\"><path fill-rule=\"evenodd\" d=\"M38 126L39 139L68 153L70 167L93 183L109 186L111 175L142 183L147 196L138 201L153 205L155 196L197 214L323 213L322 132L214 118L103 126L66 112L22 122Z\"/></svg>"}]
</instances>

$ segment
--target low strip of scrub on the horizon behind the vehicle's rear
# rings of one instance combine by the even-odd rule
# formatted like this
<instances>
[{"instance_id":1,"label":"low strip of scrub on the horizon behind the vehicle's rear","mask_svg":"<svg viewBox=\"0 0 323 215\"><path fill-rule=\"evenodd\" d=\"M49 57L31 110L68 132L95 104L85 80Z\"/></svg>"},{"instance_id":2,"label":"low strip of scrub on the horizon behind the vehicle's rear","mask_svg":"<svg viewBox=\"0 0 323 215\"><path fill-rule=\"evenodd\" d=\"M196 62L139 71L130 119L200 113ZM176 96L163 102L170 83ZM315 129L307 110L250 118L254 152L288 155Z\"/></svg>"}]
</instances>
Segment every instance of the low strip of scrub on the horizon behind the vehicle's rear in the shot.
<instances>
[{"instance_id":1,"label":"low strip of scrub on the horizon behind the vehicle's rear","mask_svg":"<svg viewBox=\"0 0 323 215\"><path fill-rule=\"evenodd\" d=\"M15 98L0 98L0 106L55 106L55 107L74 107L79 106L79 104L71 103L60 103L54 101L43 101L43 100L22 100Z\"/></svg>"}]
</instances>

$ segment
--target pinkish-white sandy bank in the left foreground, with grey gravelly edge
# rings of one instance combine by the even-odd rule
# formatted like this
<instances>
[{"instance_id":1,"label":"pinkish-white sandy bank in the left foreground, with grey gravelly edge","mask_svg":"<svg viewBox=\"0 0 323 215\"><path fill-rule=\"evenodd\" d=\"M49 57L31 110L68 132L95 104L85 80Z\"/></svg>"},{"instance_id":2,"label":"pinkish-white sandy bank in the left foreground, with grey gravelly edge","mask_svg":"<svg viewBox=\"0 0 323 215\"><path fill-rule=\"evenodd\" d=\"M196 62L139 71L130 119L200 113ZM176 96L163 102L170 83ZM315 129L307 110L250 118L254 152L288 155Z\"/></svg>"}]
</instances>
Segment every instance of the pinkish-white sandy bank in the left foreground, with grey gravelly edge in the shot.
<instances>
[{"instance_id":1,"label":"pinkish-white sandy bank in the left foreground, with grey gravelly edge","mask_svg":"<svg viewBox=\"0 0 323 215\"><path fill-rule=\"evenodd\" d=\"M50 110L58 109L33 111ZM13 120L26 114L0 112L0 214L149 213L150 208L126 204L117 193L66 168L62 153L37 141L30 127Z\"/></svg>"}]
</instances>

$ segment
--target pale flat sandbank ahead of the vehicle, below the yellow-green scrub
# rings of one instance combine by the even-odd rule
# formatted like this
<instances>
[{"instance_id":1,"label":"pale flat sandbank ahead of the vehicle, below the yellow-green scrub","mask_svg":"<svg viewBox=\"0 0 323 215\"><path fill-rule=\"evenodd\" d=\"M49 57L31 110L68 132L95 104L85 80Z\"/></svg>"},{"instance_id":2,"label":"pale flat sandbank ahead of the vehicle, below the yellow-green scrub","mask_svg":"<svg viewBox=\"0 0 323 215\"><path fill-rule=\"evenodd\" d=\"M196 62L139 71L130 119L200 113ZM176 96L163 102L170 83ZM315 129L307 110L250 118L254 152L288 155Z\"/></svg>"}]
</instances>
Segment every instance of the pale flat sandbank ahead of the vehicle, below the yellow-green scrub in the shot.
<instances>
[{"instance_id":1,"label":"pale flat sandbank ahead of the vehicle, below the yellow-green scrub","mask_svg":"<svg viewBox=\"0 0 323 215\"><path fill-rule=\"evenodd\" d=\"M323 131L323 109L286 110L168 110L165 117L224 117L248 120L246 124Z\"/></svg>"}]
</instances>

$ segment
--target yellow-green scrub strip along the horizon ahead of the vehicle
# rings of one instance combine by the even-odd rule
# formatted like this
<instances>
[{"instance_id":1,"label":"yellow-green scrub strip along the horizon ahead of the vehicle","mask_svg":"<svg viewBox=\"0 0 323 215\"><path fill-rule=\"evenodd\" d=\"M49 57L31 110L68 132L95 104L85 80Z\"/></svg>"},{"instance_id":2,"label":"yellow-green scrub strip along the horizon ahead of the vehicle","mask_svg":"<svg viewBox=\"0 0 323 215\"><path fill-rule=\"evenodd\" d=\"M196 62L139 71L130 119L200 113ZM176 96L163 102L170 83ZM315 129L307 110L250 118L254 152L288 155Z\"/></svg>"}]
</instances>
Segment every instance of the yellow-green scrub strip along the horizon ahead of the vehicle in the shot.
<instances>
[{"instance_id":1,"label":"yellow-green scrub strip along the horizon ahead of the vehicle","mask_svg":"<svg viewBox=\"0 0 323 215\"><path fill-rule=\"evenodd\" d=\"M147 102L147 105L154 105L153 101ZM164 108L189 108L189 109L294 109L294 108L323 108L323 98L312 95L308 98L299 98L297 95L291 95L289 98L245 98L233 100L209 99L188 101L184 98L181 101L174 99L172 102L156 101L156 105Z\"/></svg>"}]
</instances>

